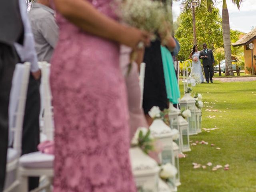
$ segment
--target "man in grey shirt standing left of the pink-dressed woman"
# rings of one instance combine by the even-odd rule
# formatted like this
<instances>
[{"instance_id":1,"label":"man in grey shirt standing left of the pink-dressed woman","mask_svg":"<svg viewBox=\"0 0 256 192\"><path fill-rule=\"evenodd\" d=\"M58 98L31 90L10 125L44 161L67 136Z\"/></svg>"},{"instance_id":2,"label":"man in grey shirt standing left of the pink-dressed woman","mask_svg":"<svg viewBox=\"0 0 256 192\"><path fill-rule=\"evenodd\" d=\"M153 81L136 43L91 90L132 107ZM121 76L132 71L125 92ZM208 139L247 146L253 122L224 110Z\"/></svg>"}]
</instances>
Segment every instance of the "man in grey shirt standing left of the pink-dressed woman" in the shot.
<instances>
[{"instance_id":1,"label":"man in grey shirt standing left of the pink-dressed woman","mask_svg":"<svg viewBox=\"0 0 256 192\"><path fill-rule=\"evenodd\" d=\"M50 62L58 41L58 26L50 0L35 0L28 16L34 34L38 61Z\"/></svg>"}]
</instances>

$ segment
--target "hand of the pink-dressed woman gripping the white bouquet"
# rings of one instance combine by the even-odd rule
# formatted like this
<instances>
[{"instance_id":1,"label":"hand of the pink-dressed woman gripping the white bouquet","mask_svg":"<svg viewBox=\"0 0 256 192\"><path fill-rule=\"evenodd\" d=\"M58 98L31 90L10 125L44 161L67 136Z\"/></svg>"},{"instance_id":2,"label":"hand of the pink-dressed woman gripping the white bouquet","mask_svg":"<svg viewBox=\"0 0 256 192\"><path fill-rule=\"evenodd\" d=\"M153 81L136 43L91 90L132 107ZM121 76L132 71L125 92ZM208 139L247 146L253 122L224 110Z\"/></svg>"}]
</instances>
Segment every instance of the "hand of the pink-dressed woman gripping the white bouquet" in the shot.
<instances>
[{"instance_id":1,"label":"hand of the pink-dressed woman gripping the white bouquet","mask_svg":"<svg viewBox=\"0 0 256 192\"><path fill-rule=\"evenodd\" d=\"M144 43L144 46L150 45L150 34L134 27L125 27L120 34L119 42L137 50L140 42Z\"/></svg>"}]
</instances>

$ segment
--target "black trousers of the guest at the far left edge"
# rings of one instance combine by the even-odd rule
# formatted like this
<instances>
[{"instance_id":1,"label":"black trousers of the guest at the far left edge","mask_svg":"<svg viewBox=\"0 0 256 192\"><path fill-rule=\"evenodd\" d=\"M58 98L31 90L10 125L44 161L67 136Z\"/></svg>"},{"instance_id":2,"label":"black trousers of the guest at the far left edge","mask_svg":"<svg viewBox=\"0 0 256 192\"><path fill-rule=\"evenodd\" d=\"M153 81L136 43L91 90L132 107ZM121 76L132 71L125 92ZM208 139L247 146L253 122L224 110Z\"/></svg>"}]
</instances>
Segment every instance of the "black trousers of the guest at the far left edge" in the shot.
<instances>
[{"instance_id":1,"label":"black trousers of the guest at the far left edge","mask_svg":"<svg viewBox=\"0 0 256 192\"><path fill-rule=\"evenodd\" d=\"M0 192L3 191L8 149L8 106L12 76L19 57L12 46L0 43Z\"/></svg>"}]
</instances>

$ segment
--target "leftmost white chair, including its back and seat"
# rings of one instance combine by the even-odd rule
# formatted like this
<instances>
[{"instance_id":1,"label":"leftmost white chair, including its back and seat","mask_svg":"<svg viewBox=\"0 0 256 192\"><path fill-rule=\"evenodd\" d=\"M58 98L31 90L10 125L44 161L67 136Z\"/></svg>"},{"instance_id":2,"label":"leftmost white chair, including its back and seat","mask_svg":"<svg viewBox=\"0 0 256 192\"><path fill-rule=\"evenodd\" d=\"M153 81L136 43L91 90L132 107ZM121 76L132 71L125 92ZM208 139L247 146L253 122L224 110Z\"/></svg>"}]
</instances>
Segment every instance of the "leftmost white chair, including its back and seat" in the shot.
<instances>
[{"instance_id":1,"label":"leftmost white chair, including its back and seat","mask_svg":"<svg viewBox=\"0 0 256 192\"><path fill-rule=\"evenodd\" d=\"M11 192L19 184L18 161L21 154L22 126L28 90L30 63L16 64L9 104L9 144L6 165L6 182L4 192Z\"/></svg>"}]
</instances>

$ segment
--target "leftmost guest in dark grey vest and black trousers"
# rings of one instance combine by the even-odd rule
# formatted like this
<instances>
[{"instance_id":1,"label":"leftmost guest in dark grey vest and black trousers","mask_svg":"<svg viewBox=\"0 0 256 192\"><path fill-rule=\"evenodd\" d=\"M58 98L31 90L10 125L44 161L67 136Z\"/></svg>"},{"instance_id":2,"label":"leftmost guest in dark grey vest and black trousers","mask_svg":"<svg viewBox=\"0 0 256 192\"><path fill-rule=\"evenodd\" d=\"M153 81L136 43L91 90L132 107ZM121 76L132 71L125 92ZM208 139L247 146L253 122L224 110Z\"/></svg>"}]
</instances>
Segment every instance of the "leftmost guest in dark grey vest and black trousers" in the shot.
<instances>
[{"instance_id":1,"label":"leftmost guest in dark grey vest and black trousers","mask_svg":"<svg viewBox=\"0 0 256 192\"><path fill-rule=\"evenodd\" d=\"M19 57L14 42L23 44L18 0L0 0L0 191L4 188L8 148L8 106L12 75Z\"/></svg>"}]
</instances>

